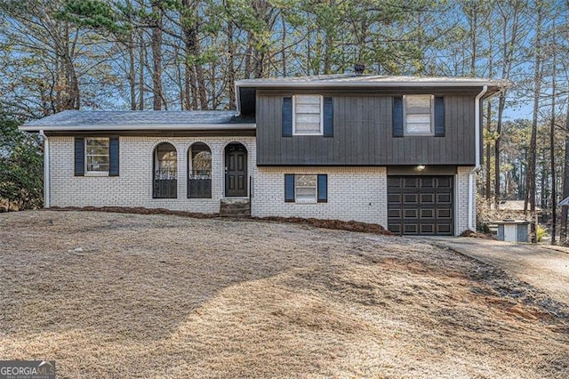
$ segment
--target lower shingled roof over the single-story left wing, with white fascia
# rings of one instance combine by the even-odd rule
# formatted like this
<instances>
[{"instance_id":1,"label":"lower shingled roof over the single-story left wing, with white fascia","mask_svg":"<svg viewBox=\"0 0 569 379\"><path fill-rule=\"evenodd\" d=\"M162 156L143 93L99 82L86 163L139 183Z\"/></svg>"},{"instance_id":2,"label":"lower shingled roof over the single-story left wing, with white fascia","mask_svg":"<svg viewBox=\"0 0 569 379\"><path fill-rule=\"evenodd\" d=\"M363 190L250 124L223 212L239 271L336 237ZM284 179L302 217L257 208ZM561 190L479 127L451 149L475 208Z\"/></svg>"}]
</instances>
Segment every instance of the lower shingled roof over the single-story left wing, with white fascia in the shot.
<instances>
[{"instance_id":1,"label":"lower shingled roof over the single-story left wing, with white fascia","mask_svg":"<svg viewBox=\"0 0 569 379\"><path fill-rule=\"evenodd\" d=\"M255 123L234 110L64 110L20 126L27 132L145 129L245 130L255 129Z\"/></svg>"}]
</instances>

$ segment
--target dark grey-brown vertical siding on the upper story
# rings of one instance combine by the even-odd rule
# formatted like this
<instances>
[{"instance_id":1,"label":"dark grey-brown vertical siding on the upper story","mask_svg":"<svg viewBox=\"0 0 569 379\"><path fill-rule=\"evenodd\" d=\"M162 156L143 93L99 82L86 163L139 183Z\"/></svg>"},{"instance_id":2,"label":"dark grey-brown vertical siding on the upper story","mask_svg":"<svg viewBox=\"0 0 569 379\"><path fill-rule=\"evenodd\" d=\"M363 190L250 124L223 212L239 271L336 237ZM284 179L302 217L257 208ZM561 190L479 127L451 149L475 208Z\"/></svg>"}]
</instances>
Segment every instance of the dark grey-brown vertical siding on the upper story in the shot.
<instances>
[{"instance_id":1,"label":"dark grey-brown vertical siding on the upper story","mask_svg":"<svg viewBox=\"0 0 569 379\"><path fill-rule=\"evenodd\" d=\"M333 96L333 137L282 137L282 101L293 93L258 92L257 164L474 165L477 92L429 93L445 97L445 137L393 138L391 94L347 93L322 93Z\"/></svg>"}]
</instances>

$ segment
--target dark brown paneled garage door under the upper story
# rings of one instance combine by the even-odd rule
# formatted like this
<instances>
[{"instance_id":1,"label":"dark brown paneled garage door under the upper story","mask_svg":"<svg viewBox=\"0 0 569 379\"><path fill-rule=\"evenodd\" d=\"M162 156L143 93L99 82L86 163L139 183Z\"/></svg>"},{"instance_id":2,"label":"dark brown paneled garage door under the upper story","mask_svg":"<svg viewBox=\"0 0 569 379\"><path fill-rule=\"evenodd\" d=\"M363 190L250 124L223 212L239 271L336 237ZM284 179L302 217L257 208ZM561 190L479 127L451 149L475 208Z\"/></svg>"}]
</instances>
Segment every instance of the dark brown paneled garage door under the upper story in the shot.
<instances>
[{"instance_id":1,"label":"dark brown paneled garage door under the upper story","mask_svg":"<svg viewBox=\"0 0 569 379\"><path fill-rule=\"evenodd\" d=\"M453 235L453 176L388 176L388 229Z\"/></svg>"}]
</instances>

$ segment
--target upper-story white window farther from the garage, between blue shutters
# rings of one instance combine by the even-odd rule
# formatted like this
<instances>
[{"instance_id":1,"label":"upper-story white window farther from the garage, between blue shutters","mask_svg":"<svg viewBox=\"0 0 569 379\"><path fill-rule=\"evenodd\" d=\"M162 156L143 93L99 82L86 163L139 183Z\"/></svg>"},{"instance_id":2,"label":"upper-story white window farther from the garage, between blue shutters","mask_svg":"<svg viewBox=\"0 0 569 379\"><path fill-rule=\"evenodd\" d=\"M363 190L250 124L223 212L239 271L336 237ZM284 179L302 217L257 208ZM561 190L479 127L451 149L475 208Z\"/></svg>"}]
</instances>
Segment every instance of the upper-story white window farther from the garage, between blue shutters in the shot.
<instances>
[{"instance_id":1,"label":"upper-story white window farther from the garage, between blue shutters","mask_svg":"<svg viewBox=\"0 0 569 379\"><path fill-rule=\"evenodd\" d=\"M322 96L295 95L293 97L294 134L322 135Z\"/></svg>"}]
</instances>

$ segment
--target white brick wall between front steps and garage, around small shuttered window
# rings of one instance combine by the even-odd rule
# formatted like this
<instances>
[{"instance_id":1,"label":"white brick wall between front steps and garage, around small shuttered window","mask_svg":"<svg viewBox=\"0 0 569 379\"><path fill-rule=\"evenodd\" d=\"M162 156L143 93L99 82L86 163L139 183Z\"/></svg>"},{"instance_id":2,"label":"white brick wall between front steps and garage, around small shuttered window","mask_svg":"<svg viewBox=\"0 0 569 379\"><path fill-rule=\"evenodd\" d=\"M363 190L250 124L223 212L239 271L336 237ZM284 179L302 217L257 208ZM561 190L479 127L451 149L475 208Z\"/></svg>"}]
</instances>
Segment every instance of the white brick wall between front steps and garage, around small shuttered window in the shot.
<instances>
[{"instance_id":1,"label":"white brick wall between front steps and garage, around small shuttered window","mask_svg":"<svg viewBox=\"0 0 569 379\"><path fill-rule=\"evenodd\" d=\"M328 202L284 202L285 173L328 175ZM252 215L372 222L387 227L385 167L260 166L254 175Z\"/></svg>"}]
</instances>

